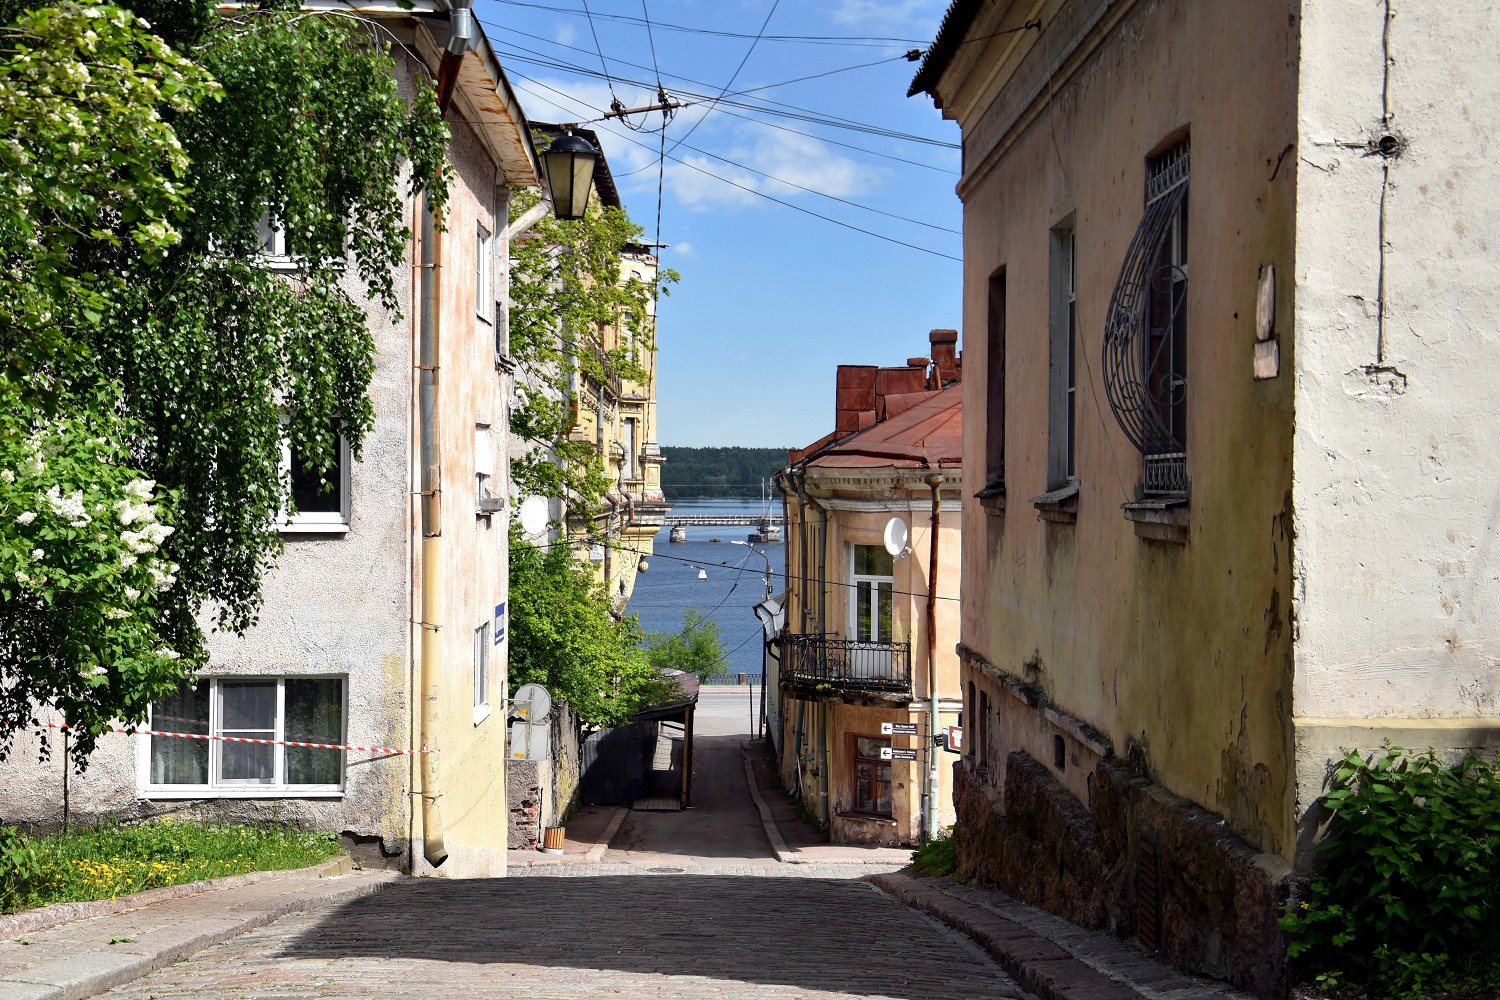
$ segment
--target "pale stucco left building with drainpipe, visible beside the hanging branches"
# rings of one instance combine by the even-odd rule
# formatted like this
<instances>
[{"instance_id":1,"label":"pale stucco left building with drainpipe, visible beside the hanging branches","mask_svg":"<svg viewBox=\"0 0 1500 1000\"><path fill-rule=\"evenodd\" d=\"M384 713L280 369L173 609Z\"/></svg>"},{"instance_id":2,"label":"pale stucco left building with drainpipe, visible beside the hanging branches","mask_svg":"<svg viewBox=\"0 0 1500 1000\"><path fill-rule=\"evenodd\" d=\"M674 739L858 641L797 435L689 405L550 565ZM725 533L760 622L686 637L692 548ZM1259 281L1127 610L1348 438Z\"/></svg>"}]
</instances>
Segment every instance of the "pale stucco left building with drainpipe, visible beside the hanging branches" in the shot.
<instances>
[{"instance_id":1,"label":"pale stucco left building with drainpipe, visible beside the hanging branches","mask_svg":"<svg viewBox=\"0 0 1500 1000\"><path fill-rule=\"evenodd\" d=\"M332 495L290 517L260 624L213 636L210 661L156 730L273 741L105 736L70 783L75 817L189 811L340 832L368 859L448 876L506 864L504 460L507 373L494 276L507 189L536 186L525 118L483 36L444 57L446 15L380 15L398 72L452 81L450 199L441 226L408 199L400 315L368 303L375 426ZM420 60L420 61L418 61ZM268 259L294 268L294 259ZM352 268L350 291L357 297ZM296 456L290 456L294 492ZM280 741L280 742L278 742ZM312 750L285 741L369 750ZM388 750L432 750L392 754ZM18 745L0 810L51 823L62 762Z\"/></svg>"}]
</instances>

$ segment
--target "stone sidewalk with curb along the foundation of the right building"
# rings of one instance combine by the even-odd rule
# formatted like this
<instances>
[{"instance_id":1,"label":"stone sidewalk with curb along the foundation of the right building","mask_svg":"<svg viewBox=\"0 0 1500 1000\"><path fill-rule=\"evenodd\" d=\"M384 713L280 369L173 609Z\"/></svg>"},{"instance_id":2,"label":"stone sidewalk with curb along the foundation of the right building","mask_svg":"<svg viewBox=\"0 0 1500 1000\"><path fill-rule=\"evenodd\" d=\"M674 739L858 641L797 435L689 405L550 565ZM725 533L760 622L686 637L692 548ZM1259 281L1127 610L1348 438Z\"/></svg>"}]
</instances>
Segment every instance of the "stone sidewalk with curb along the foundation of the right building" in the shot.
<instances>
[{"instance_id":1,"label":"stone sidewalk with curb along the foundation of the right building","mask_svg":"<svg viewBox=\"0 0 1500 1000\"><path fill-rule=\"evenodd\" d=\"M969 937L1023 990L1041 1000L1248 1000L1246 994L1227 984L1176 973L1146 955L1131 955L1116 963L1101 963L1100 957L1088 954L1080 958L1059 940L945 892L934 885L940 880L876 874L866 876L866 882ZM1078 930L1078 934L1092 937L1096 933ZM1110 973L1101 972L1101 967L1110 964L1114 966Z\"/></svg>"}]
</instances>

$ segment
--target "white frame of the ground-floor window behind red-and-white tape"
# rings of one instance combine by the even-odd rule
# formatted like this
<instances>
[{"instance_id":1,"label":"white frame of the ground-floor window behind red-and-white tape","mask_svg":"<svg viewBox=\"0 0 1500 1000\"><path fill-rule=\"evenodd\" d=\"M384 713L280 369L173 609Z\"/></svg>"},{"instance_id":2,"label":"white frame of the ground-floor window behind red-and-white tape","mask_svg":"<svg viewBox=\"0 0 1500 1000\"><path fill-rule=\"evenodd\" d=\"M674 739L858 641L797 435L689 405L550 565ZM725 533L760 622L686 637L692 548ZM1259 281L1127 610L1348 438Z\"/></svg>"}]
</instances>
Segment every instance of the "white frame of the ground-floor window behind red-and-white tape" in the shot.
<instances>
[{"instance_id":1,"label":"white frame of the ground-floor window behind red-and-white tape","mask_svg":"<svg viewBox=\"0 0 1500 1000\"><path fill-rule=\"evenodd\" d=\"M285 739L286 733L286 682L288 681L338 681L344 694L344 718L338 742L348 742L350 730L350 679L342 673L298 673L291 676L264 675L225 675L216 678L200 678L208 684L208 735L222 733L222 694L219 685L230 684L276 684L276 726L266 739ZM152 726L150 711L147 712L147 727ZM236 730L243 732L243 730ZM224 781L219 778L220 750L224 741L208 742L208 781L207 784L152 784L152 741L153 739L183 739L182 736L146 736L136 742L135 753L135 784L142 799L342 799L348 784L348 757L339 756L338 784L286 784L286 747L273 745L273 783L252 784L248 781Z\"/></svg>"}]
</instances>

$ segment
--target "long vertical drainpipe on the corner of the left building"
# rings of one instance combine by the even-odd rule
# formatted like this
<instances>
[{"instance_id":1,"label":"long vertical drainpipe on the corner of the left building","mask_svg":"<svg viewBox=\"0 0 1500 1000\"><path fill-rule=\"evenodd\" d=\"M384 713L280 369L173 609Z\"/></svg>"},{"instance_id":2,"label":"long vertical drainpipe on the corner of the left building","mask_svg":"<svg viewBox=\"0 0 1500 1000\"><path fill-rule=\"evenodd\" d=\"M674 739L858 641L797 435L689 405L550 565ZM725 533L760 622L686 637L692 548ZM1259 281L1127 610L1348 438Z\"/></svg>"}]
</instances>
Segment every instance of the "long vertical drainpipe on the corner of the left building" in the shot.
<instances>
[{"instance_id":1,"label":"long vertical drainpipe on the corner of the left building","mask_svg":"<svg viewBox=\"0 0 1500 1000\"><path fill-rule=\"evenodd\" d=\"M442 676L442 508L438 457L438 226L432 202L422 199L422 319L417 336L417 441L422 472L422 699L420 739L423 748L438 732L440 679ZM442 846L442 816L438 811L438 754L422 754L422 856L436 868L448 859Z\"/></svg>"}]
</instances>

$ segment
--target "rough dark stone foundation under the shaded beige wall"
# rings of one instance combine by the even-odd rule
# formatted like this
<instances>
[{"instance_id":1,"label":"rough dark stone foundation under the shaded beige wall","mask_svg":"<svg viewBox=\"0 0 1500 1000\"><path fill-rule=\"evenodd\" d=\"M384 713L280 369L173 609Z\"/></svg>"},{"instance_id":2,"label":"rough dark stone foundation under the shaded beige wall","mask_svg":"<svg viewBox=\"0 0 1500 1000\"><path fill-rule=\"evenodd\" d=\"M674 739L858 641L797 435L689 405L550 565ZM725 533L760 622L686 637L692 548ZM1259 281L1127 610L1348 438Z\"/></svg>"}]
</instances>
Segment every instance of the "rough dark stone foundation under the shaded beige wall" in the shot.
<instances>
[{"instance_id":1,"label":"rough dark stone foundation under the shaded beige wall","mask_svg":"<svg viewBox=\"0 0 1500 1000\"><path fill-rule=\"evenodd\" d=\"M958 870L1124 939L1150 937L1155 924L1156 952L1176 967L1260 997L1286 996L1286 939L1276 916L1290 867L1113 760L1095 768L1090 789L1084 807L1044 766L1016 751L1005 762L1002 799L960 760L954 766Z\"/></svg>"}]
</instances>

